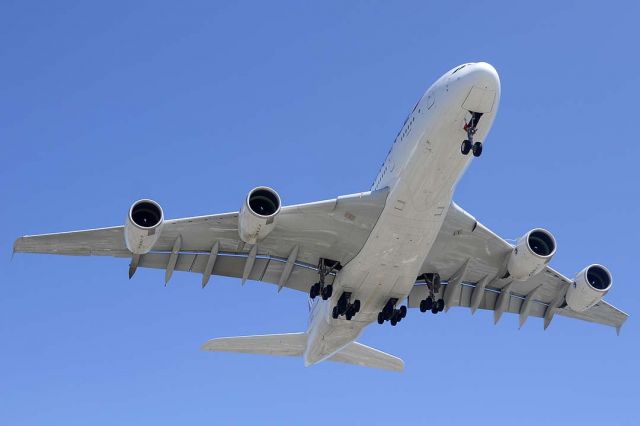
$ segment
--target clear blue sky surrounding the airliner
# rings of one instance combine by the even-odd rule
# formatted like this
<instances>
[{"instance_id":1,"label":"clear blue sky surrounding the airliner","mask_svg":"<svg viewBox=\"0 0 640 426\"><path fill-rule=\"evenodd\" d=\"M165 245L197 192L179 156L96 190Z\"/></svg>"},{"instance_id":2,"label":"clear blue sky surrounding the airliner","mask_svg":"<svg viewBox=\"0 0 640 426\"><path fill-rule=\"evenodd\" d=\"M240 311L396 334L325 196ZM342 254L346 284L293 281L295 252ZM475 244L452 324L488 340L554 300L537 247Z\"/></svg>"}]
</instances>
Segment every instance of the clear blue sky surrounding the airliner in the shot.
<instances>
[{"instance_id":1,"label":"clear blue sky surrounding the airliner","mask_svg":"<svg viewBox=\"0 0 640 426\"><path fill-rule=\"evenodd\" d=\"M135 4L133 4L135 3ZM0 5L0 424L638 424L637 2L23 2ZM361 341L401 374L199 351L303 331L306 296L16 255L23 234L368 190L446 70L492 63L502 102L455 200L505 238L542 226L631 317L411 311Z\"/></svg>"}]
</instances>

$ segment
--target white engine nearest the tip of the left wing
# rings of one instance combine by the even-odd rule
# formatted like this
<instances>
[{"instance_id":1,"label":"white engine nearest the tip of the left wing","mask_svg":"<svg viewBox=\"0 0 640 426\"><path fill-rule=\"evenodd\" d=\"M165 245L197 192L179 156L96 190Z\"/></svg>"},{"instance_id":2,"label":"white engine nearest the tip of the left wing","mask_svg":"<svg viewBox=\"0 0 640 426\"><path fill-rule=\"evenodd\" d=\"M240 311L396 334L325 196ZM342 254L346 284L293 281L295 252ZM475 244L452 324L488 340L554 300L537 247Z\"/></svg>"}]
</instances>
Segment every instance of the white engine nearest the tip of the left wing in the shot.
<instances>
[{"instance_id":1,"label":"white engine nearest the tip of the left wing","mask_svg":"<svg viewBox=\"0 0 640 426\"><path fill-rule=\"evenodd\" d=\"M164 226L164 213L160 204L153 200L138 200L129 209L124 225L124 240L133 254L151 251L160 238Z\"/></svg>"}]
</instances>

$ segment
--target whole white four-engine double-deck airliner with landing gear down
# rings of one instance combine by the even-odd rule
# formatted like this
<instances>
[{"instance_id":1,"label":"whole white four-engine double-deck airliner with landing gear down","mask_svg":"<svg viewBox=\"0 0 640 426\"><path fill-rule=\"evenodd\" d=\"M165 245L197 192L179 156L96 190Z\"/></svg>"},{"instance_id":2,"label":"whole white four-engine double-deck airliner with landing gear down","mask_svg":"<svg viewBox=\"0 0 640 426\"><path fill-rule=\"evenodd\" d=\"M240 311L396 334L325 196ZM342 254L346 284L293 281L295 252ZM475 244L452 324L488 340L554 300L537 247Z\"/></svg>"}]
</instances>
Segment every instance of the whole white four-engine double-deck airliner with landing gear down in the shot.
<instances>
[{"instance_id":1,"label":"whole white four-engine double-deck airliner with landing gear down","mask_svg":"<svg viewBox=\"0 0 640 426\"><path fill-rule=\"evenodd\" d=\"M500 79L484 62L445 73L405 120L370 191L281 206L268 187L251 190L239 212L165 220L152 200L125 225L25 236L14 251L128 257L138 267L273 283L309 295L306 332L212 339L204 350L302 356L402 370L400 358L355 340L371 323L404 321L407 310L450 307L615 327L627 318L603 300L611 274L599 264L569 279L548 266L553 235L541 228L516 244L454 202L458 179L482 153L500 103Z\"/></svg>"}]
</instances>

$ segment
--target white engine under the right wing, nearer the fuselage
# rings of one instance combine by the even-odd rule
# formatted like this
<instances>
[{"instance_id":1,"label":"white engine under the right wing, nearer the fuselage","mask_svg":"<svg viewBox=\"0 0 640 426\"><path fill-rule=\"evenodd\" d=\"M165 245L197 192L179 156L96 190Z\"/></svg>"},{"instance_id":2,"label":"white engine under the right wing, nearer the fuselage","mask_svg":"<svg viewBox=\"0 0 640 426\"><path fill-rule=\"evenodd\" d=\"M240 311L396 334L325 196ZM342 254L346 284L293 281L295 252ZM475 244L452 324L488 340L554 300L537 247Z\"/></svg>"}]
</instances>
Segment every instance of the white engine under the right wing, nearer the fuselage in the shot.
<instances>
[{"instance_id":1,"label":"white engine under the right wing, nearer the fuselage","mask_svg":"<svg viewBox=\"0 0 640 426\"><path fill-rule=\"evenodd\" d=\"M507 263L509 275L517 281L524 281L544 269L556 253L556 240L542 228L532 229L519 240Z\"/></svg>"}]
</instances>

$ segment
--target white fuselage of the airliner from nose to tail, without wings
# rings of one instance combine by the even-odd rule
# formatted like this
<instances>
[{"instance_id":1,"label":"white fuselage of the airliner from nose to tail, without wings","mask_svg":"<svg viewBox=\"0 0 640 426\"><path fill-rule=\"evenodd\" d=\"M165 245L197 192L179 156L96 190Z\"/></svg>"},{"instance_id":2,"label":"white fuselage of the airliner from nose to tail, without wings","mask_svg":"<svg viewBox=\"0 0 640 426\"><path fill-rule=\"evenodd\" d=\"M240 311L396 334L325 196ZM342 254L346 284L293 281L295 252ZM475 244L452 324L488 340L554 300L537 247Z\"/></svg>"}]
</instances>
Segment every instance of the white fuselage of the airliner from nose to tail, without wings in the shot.
<instances>
[{"instance_id":1,"label":"white fuselage of the airliner from nose to tail, without wings","mask_svg":"<svg viewBox=\"0 0 640 426\"><path fill-rule=\"evenodd\" d=\"M473 158L460 151L470 111L483 113L474 140L484 142L499 100L498 74L482 62L454 68L422 96L373 184L372 190L390 189L378 222L360 253L336 276L332 298L316 298L311 306L306 365L354 341L390 298L408 296L440 231L455 185ZM352 292L362 304L350 321L331 316L343 291Z\"/></svg>"}]
</instances>

